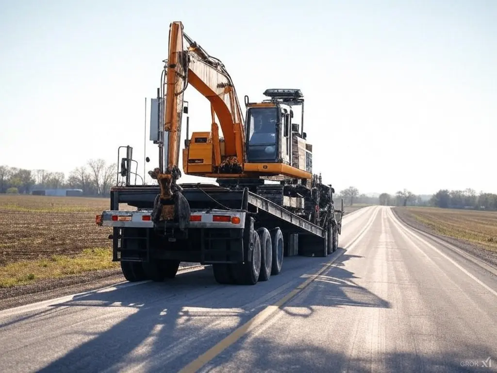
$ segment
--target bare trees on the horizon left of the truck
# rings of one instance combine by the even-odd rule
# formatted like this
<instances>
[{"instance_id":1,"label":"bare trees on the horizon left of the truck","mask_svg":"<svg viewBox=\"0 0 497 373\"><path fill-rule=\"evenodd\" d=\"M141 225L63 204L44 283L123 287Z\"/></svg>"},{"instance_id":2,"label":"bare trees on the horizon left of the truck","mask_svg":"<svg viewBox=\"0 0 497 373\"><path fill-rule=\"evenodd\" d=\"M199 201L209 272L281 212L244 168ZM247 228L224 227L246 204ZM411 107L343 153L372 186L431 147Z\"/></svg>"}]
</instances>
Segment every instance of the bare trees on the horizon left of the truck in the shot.
<instances>
[{"instance_id":1,"label":"bare trees on the horizon left of the truck","mask_svg":"<svg viewBox=\"0 0 497 373\"><path fill-rule=\"evenodd\" d=\"M0 166L0 193L29 194L36 189L82 189L86 196L107 196L115 184L117 167L91 159L66 177L63 172Z\"/></svg>"}]
</instances>

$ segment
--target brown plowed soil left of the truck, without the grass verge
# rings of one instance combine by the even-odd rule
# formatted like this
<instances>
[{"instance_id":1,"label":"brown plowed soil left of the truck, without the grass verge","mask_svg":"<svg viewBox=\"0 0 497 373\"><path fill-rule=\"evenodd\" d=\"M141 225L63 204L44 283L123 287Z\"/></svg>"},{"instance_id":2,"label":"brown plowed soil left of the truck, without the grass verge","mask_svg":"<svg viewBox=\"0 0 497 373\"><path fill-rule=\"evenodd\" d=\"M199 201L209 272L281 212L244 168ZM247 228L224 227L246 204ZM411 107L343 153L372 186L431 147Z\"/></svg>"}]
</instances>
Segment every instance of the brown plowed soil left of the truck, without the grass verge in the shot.
<instances>
[{"instance_id":1,"label":"brown plowed soil left of the truck, without the grass verge","mask_svg":"<svg viewBox=\"0 0 497 373\"><path fill-rule=\"evenodd\" d=\"M110 248L111 228L95 225L108 198L0 195L0 266Z\"/></svg>"}]
</instances>

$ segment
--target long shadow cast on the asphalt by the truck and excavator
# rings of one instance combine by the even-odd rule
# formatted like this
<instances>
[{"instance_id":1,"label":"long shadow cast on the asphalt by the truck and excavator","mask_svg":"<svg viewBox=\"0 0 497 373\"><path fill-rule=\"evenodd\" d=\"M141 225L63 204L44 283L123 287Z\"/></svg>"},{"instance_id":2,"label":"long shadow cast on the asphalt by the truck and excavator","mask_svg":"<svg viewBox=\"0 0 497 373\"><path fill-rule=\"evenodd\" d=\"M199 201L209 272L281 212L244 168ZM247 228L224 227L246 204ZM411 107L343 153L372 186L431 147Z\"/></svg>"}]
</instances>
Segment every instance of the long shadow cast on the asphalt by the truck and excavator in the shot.
<instances>
[{"instance_id":1,"label":"long shadow cast on the asphalt by the truck and excavator","mask_svg":"<svg viewBox=\"0 0 497 373\"><path fill-rule=\"evenodd\" d=\"M354 282L358 278L343 264L351 259L364 260L342 254L280 309L294 317L310 317L317 308L390 307ZM205 268L178 274L164 283L111 288L59 303L55 305L59 312L35 316L28 322L52 323L54 329L61 325L61 340L67 343L58 348L72 350L39 372L102 372L141 363L146 364L139 369L142 372L177 371L328 261L285 258L280 275L255 286L219 285L212 269ZM72 322L77 325L71 326ZM83 342L76 345L77 340Z\"/></svg>"}]
</instances>

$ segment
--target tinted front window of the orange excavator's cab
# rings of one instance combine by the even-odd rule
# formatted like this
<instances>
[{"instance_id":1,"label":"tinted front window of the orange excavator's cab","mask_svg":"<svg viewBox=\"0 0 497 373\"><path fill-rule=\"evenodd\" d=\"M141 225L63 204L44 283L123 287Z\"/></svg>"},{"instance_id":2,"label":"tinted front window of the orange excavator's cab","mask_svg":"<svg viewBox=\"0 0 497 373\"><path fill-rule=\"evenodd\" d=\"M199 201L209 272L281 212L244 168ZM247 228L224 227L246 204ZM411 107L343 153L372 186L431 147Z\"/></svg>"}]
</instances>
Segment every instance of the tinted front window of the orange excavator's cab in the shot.
<instances>
[{"instance_id":1,"label":"tinted front window of the orange excavator's cab","mask_svg":"<svg viewBox=\"0 0 497 373\"><path fill-rule=\"evenodd\" d=\"M277 162L279 109L251 107L247 112L248 162Z\"/></svg>"}]
</instances>

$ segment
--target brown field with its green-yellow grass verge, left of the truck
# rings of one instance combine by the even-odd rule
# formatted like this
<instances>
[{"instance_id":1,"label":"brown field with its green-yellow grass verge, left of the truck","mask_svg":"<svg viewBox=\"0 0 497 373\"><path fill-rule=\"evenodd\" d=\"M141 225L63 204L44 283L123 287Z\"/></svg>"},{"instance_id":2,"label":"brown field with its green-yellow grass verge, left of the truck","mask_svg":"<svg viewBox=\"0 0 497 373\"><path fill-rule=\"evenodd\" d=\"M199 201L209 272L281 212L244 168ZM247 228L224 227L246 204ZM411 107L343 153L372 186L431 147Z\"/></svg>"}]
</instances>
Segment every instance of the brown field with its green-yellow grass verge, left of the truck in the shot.
<instances>
[{"instance_id":1,"label":"brown field with its green-yellow grass verge, left of the truck","mask_svg":"<svg viewBox=\"0 0 497 373\"><path fill-rule=\"evenodd\" d=\"M109 198L0 194L0 287L117 267L111 228L95 225L106 209Z\"/></svg>"}]
</instances>

